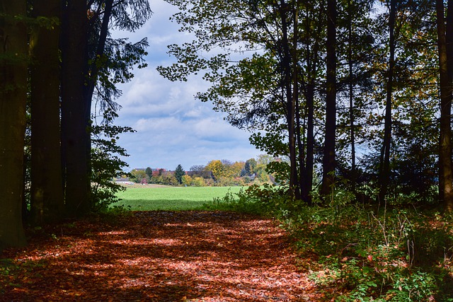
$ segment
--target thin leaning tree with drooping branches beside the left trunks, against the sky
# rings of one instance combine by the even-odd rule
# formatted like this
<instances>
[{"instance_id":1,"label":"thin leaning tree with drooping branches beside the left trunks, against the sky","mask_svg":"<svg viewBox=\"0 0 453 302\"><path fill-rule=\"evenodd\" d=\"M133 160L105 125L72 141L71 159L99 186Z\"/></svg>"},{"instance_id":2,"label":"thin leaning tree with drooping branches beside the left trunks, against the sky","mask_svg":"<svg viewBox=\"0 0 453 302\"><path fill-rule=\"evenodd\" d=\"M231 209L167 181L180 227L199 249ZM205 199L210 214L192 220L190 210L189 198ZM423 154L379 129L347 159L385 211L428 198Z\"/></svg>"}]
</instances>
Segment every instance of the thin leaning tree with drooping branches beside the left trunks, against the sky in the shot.
<instances>
[{"instance_id":1,"label":"thin leaning tree with drooping branches beside the left trunks, against the sky","mask_svg":"<svg viewBox=\"0 0 453 302\"><path fill-rule=\"evenodd\" d=\"M88 2L88 47L87 58L84 65L86 85L84 86L85 117L84 127L91 127L91 107L94 101L98 102L101 115L112 112L112 117L120 105L115 103L115 98L121 95L116 88L117 83L125 83L132 79L129 71L134 64L139 68L143 64L143 56L147 53L144 48L148 46L144 38L137 43L127 42L127 39L111 39L110 28L134 31L140 28L151 16L148 0L94 0ZM95 93L96 91L96 93ZM95 112L95 115L98 112ZM96 116L93 117L96 119ZM105 122L105 119L104 119ZM86 132L86 151L88 165L91 163L91 133ZM88 169L91 170L91 168Z\"/></svg>"}]
</instances>

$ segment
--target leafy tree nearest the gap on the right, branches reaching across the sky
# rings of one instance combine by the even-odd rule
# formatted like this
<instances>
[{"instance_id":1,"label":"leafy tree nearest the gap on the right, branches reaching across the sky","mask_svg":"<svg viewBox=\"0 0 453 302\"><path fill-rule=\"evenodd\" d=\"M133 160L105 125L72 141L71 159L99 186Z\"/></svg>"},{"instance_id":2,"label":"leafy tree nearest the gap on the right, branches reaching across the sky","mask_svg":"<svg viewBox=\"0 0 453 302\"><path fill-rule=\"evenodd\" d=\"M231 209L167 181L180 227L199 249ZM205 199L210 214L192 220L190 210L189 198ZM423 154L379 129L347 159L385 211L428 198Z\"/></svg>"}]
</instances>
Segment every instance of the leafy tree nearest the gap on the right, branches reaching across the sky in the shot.
<instances>
[{"instance_id":1,"label":"leafy tree nearest the gap on the right, branches reaching across the sky","mask_svg":"<svg viewBox=\"0 0 453 302\"><path fill-rule=\"evenodd\" d=\"M190 73L210 70L205 79L214 85L197 97L229 112L229 122L237 127L265 129L275 139L285 139L278 146L282 148L273 153L289 156L289 192L300 199L297 146L303 143L298 137L300 123L295 120L300 76L298 12L302 1L207 1L204 6L198 6L197 1L168 2L179 6L182 12L174 18L183 30L193 31L196 40L171 45L170 53L178 64L160 67L161 74L185 81ZM206 9L210 10L208 16ZM198 52L210 52L215 47L221 47L224 53L205 59ZM263 52L253 52L257 49ZM251 57L230 59L244 50L253 52ZM274 147L260 137L254 141L263 143L263 148Z\"/></svg>"}]
</instances>

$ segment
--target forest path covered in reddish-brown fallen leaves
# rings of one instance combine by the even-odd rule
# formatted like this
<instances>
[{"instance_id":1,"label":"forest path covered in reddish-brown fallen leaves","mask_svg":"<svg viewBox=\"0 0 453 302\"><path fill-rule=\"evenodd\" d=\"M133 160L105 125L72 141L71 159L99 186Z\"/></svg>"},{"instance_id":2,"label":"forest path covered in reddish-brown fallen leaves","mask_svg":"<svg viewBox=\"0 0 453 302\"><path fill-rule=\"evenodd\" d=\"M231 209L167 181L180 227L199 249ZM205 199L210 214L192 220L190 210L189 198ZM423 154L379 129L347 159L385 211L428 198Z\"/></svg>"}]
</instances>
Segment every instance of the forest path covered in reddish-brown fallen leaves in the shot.
<instances>
[{"instance_id":1,"label":"forest path covered in reddish-brown fallen leaves","mask_svg":"<svg viewBox=\"0 0 453 302\"><path fill-rule=\"evenodd\" d=\"M0 301L326 301L271 219L137 211L31 231L1 255Z\"/></svg>"}]
</instances>

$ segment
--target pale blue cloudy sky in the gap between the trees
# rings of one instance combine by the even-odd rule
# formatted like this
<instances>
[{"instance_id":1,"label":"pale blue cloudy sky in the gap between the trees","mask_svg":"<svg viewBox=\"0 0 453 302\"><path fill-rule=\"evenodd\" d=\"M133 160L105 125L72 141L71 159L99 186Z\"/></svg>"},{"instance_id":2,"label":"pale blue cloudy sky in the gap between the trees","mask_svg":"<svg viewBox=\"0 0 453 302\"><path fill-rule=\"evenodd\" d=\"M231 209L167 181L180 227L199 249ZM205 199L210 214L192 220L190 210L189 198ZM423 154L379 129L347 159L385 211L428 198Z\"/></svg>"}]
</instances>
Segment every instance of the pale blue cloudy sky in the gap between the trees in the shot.
<instances>
[{"instance_id":1,"label":"pale blue cloudy sky in the gap between the trees","mask_svg":"<svg viewBox=\"0 0 453 302\"><path fill-rule=\"evenodd\" d=\"M122 84L122 106L115 120L137 132L122 134L118 144L130 155L123 158L129 168L165 168L184 170L206 165L212 160L246 161L258 151L248 141L250 133L232 127L225 114L212 110L211 103L195 100L195 93L206 91L209 83L195 76L187 82L171 82L160 76L157 66L176 62L167 54L167 45L192 38L178 32L177 23L168 19L176 8L163 0L150 0L154 12L150 20L135 33L115 32L113 37L129 37L130 42L148 38L146 69L134 69L134 79Z\"/></svg>"}]
</instances>

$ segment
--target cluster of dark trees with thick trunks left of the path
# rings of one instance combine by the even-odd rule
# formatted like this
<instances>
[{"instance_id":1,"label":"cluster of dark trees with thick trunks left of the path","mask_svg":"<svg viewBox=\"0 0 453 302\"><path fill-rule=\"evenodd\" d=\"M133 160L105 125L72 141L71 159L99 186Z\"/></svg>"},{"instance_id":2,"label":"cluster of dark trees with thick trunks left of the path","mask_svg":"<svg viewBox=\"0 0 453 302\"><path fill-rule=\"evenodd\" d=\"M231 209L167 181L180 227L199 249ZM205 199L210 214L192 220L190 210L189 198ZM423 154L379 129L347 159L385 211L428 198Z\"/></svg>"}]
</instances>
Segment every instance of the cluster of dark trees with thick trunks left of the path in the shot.
<instances>
[{"instance_id":1,"label":"cluster of dark trees with thick trunks left of the path","mask_svg":"<svg viewBox=\"0 0 453 302\"><path fill-rule=\"evenodd\" d=\"M106 180L120 173L125 163L117 155L125 150L113 141L132 129L112 124L120 108L115 85L132 79L133 66L146 66L147 40L115 40L110 30L136 30L151 10L145 0L1 1L0 7L5 248L25 244L23 222L42 226L87 214L117 190ZM100 182L103 196L96 194Z\"/></svg>"}]
</instances>

